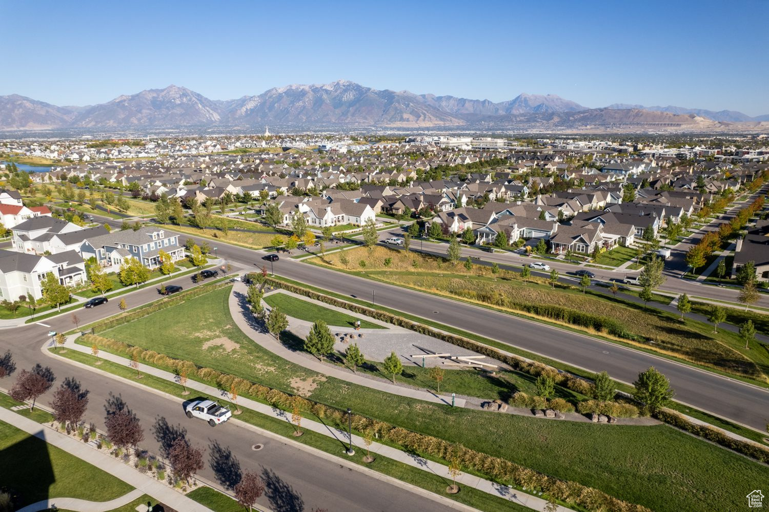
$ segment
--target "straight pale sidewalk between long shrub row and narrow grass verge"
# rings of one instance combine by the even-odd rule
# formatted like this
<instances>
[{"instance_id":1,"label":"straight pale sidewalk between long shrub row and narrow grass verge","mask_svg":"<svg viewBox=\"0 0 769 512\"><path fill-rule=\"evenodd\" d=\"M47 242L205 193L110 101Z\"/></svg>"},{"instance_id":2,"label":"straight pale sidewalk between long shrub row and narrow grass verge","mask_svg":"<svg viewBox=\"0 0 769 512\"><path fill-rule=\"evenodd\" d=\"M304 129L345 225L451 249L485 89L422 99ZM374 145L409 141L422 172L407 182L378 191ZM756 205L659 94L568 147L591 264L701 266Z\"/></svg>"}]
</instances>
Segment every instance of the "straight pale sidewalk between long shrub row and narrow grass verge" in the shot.
<instances>
[{"instance_id":1,"label":"straight pale sidewalk between long shrub row and narrow grass verge","mask_svg":"<svg viewBox=\"0 0 769 512\"><path fill-rule=\"evenodd\" d=\"M75 344L76 337L77 335L75 334L68 336L67 341L64 344L64 347L69 350L75 350L75 351L83 352L86 354L90 354L91 349L89 347ZM42 347L42 350L45 352L48 352L45 346ZM49 354L55 354L55 351ZM120 357L115 354L109 354L108 352L100 352L99 357L107 361L113 361L117 364L122 364L125 366L128 366L128 363L131 362L125 357ZM151 374L151 375L154 375L155 377L160 377L165 381L176 382L176 379L177 379L175 374L172 374L171 372L160 370L155 367L150 367L150 366L147 366L146 364L139 364L138 369L142 373ZM89 367L89 370L101 371L95 367ZM131 382L130 379L125 379L125 381ZM136 381L133 381L132 384L135 384L137 386L142 386L142 384L139 384ZM213 386L209 386L208 384L202 384L197 381L188 381L187 387L190 390L195 390L201 394L208 395L210 397L221 397L224 400L227 400L227 401L230 400L230 396L227 391L219 390ZM239 397L238 406L244 407L246 409L250 409L251 411L256 411L261 414L266 414L271 417L275 417L276 419L285 421L287 423L291 423L291 415L288 414L286 411L282 411L277 407L271 407L267 404L262 404L261 402L254 401L249 398ZM3 411L3 410L0 409L0 411ZM8 411L8 414L13 414L13 413ZM234 416L234 418L236 417ZM2 416L0 416L0 420L2 420ZM237 418L235 419L235 421L238 421ZM32 424L35 424L35 422L32 422ZM38 424L35 424L35 425L38 426L38 431L39 431L40 430L39 425ZM349 437L347 432L345 432L344 430L331 427L331 425L321 423L320 421L310 420L308 418L302 419L301 428L304 431L313 431L328 437L334 437L336 440L339 441L339 453L340 454L345 453L345 448L348 445ZM67 437L67 439L75 442L75 444L78 444L78 447L85 447L85 445L79 444L77 443L77 441L74 441L69 437ZM362 454L362 451L366 449L363 438L357 435L352 436L352 444L354 449L358 450L358 455ZM371 447L369 447L369 450L371 450L372 454L378 454L378 455L381 455L382 457L388 457L392 460L397 460L398 462L407 464L408 466L416 467L417 469L435 474L438 477L443 478L446 481L447 486L451 484L451 477L448 476L448 467L444 466L444 464L440 464L432 460L424 459L422 457L419 457L416 454L407 454L406 452L398 450L397 448L385 446L384 444L379 444L379 443L372 443ZM104 455L104 456L108 457L107 455ZM112 460L112 457L108 457L108 458ZM113 460L113 462L115 462L115 464L121 464L125 466L125 464L118 463L117 461ZM125 467L127 469L130 469L127 466ZM115 476L118 476L118 475L115 475ZM141 476L144 476L144 475L141 475ZM548 502L546 500L543 500L541 497L537 497L531 494L526 494L521 490L516 490L503 484L497 484L497 483L491 482L490 480L486 480L484 478L477 477L471 474L461 473L456 480L457 480L457 484L459 484L460 486L474 487L475 489L481 490L485 493L492 494L497 497L501 497L504 500L514 501L518 504L523 505L524 507L528 507L534 510L544 510L544 507L548 504ZM128 483L131 484L131 481L129 480L125 480L125 481L128 481ZM155 484L157 484L158 486L162 486L162 484L158 484L157 482L155 482ZM138 485L136 487L138 487ZM165 489L171 491L170 489L168 489L168 487L165 487ZM168 504L169 507L175 508L176 510L185 510L185 512L187 512L188 510L191 512L196 512L196 510L208 510L205 508L194 509L190 507L182 507L179 505L175 505L174 503L171 503L171 501L166 500L165 497L160 497L159 494L153 494L153 492L150 492L149 490L145 490L145 492L155 497L156 499L161 500L164 504ZM171 491L171 492L174 492L174 491ZM181 494L178 494L178 496L184 497ZM184 498L188 499L186 497ZM201 506L198 504L198 507L201 507ZM560 512L567 512L568 510L569 509L564 507L558 507L558 511Z\"/></svg>"}]
</instances>

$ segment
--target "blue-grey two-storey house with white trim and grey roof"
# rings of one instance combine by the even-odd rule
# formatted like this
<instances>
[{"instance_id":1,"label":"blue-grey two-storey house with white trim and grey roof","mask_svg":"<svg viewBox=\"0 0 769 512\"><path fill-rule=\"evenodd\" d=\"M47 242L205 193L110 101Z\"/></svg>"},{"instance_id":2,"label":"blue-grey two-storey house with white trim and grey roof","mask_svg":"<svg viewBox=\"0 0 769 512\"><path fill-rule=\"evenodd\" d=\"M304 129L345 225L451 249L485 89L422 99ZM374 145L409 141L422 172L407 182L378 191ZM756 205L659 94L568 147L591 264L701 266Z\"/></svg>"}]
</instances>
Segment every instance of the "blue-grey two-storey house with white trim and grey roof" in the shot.
<instances>
[{"instance_id":1,"label":"blue-grey two-storey house with white trim and grey roof","mask_svg":"<svg viewBox=\"0 0 769 512\"><path fill-rule=\"evenodd\" d=\"M179 245L179 235L162 228L141 228L138 231L112 231L88 238L80 245L83 259L96 258L98 264L117 271L128 258L136 258L147 268L157 268L160 251L171 255L171 261L185 258L185 248Z\"/></svg>"}]
</instances>

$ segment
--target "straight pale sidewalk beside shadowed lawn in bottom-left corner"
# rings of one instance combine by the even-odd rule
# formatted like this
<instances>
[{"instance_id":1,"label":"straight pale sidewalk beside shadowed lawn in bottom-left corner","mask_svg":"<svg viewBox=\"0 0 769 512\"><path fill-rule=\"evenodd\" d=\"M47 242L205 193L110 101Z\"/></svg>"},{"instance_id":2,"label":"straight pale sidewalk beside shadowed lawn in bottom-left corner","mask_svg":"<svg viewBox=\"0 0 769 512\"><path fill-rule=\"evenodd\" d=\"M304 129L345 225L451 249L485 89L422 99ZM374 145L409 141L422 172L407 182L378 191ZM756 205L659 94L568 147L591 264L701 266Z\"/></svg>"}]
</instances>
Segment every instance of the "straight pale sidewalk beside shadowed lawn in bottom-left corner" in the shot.
<instances>
[{"instance_id":1,"label":"straight pale sidewalk beside shadowed lawn in bottom-left corner","mask_svg":"<svg viewBox=\"0 0 769 512\"><path fill-rule=\"evenodd\" d=\"M74 345L74 341L71 343ZM128 464L123 464L122 461L116 460L110 457L108 454L103 453L102 451L95 450L88 444L82 443L81 441L77 441L72 437L62 434L61 432L57 432L48 427L45 427L44 425L39 424L37 421L32 421L28 417L24 417L21 414L16 414L15 412L9 411L8 409L5 409L5 407L0 407L0 421L5 421L5 423L12 424L14 427L25 431L28 434L32 434L33 436L38 437L38 439L42 439L42 441L45 441L48 444L52 444L55 447L65 450L68 454L72 454L79 459L85 460L85 462L88 462L89 464L93 464L99 469L105 470L113 477L119 478L126 484L130 484L135 487L136 490L140 492L138 496L141 496L141 494L149 494L151 497L155 498L155 500L159 500L162 503L168 505L168 507L174 508L175 510L185 510L185 512L211 512L210 509L199 504L197 501L191 500L184 494L178 493L165 484L161 484L158 482L158 480L155 480L155 478L148 477L145 474L139 473L133 467L128 466ZM117 499L119 500L127 496L128 494ZM132 497L131 500L128 500L125 503L130 503L138 496ZM61 500L59 500L56 505L60 508L65 507L70 510L82 510L83 512L98 512L100 510L112 510L115 508L101 508L103 504L99 504L97 502L84 501L83 503L90 503L98 508L65 507ZM22 510L25 510L25 512L32 512L32 510L46 510L46 508L48 507L29 510L25 508Z\"/></svg>"}]
</instances>

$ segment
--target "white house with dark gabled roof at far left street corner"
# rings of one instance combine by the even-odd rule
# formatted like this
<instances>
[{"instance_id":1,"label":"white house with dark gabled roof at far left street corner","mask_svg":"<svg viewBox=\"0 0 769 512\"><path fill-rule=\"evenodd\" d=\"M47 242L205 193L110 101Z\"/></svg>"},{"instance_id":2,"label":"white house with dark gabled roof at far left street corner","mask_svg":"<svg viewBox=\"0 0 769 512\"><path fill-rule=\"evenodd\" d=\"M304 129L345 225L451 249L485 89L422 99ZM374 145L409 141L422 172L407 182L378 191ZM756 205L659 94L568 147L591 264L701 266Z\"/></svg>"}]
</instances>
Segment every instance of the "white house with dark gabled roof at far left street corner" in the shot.
<instances>
[{"instance_id":1,"label":"white house with dark gabled roof at far left street corner","mask_svg":"<svg viewBox=\"0 0 769 512\"><path fill-rule=\"evenodd\" d=\"M85 281L85 263L75 251L41 256L0 249L0 301L17 301L27 294L42 298L42 281L49 272L61 284Z\"/></svg>"}]
</instances>

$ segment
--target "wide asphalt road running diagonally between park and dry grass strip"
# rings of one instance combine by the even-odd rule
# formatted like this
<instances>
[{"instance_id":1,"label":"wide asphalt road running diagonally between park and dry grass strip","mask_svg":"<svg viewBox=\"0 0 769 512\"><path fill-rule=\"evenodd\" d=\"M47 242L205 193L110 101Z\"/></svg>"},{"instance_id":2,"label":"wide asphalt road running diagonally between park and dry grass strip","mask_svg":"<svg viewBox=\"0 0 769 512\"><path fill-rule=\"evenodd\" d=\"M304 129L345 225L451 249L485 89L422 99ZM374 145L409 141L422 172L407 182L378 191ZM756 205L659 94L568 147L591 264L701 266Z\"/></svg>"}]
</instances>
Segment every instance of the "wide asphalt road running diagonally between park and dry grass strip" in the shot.
<instances>
[{"instance_id":1,"label":"wide asphalt road running diagonally between park and dry grass strip","mask_svg":"<svg viewBox=\"0 0 769 512\"><path fill-rule=\"evenodd\" d=\"M333 245L329 246L329 249L332 248ZM244 266L251 264L254 270L265 264L268 270L271 269L270 264L261 259L264 253L260 251L220 243L218 255ZM365 301L373 298L376 304L491 337L589 371L608 371L618 381L628 384L636 380L640 371L654 366L670 379L676 399L684 404L761 431L769 421L769 390L761 387L534 321L357 278L290 258L281 258L273 264L273 268L275 274L295 281Z\"/></svg>"}]
</instances>

